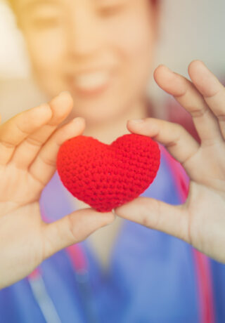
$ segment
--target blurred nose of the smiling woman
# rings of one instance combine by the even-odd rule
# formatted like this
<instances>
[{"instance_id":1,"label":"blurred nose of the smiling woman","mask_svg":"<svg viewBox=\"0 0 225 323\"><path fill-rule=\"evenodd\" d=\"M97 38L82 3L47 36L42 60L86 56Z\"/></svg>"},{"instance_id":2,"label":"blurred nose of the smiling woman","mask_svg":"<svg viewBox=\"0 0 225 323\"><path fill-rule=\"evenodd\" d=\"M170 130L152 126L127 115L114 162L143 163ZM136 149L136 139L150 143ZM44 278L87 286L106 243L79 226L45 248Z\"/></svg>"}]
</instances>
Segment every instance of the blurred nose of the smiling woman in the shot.
<instances>
[{"instance_id":1,"label":"blurred nose of the smiling woman","mask_svg":"<svg viewBox=\"0 0 225 323\"><path fill-rule=\"evenodd\" d=\"M89 8L77 5L68 20L68 46L76 58L99 50L102 41L101 26Z\"/></svg>"}]
</instances>

